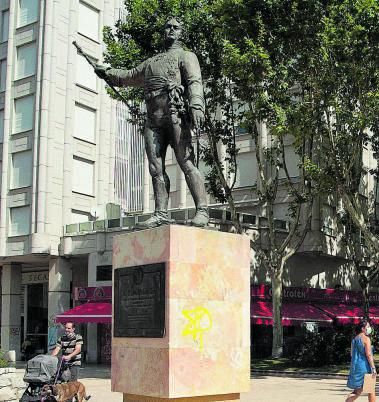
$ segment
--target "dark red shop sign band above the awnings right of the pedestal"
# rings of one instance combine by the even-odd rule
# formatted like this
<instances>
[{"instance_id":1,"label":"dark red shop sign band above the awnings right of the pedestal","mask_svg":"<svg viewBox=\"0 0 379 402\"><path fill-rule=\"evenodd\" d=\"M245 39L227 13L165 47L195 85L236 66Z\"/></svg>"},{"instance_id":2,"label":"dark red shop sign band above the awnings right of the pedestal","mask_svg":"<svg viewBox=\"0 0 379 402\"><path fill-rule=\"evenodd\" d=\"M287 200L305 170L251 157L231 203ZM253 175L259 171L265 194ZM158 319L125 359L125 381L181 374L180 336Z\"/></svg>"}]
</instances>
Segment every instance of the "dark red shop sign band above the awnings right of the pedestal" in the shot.
<instances>
[{"instance_id":1,"label":"dark red shop sign band above the awnings right of the pedestal","mask_svg":"<svg viewBox=\"0 0 379 402\"><path fill-rule=\"evenodd\" d=\"M254 285L251 287L251 296L270 300L272 288L270 285ZM363 302L363 297L361 292L354 290L284 287L283 300L360 304ZM379 293L369 292L369 301L371 304L379 304Z\"/></svg>"}]
</instances>

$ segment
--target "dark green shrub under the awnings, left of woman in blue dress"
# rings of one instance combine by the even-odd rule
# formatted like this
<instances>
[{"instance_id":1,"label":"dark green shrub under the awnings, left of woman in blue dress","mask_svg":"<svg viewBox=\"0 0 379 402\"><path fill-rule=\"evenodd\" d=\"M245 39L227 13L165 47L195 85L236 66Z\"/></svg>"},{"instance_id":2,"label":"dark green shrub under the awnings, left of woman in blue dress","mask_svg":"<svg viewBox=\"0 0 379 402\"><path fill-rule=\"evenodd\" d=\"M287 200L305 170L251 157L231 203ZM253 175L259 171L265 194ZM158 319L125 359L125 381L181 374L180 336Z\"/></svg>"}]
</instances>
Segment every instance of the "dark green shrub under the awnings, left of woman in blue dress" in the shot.
<instances>
[{"instance_id":1,"label":"dark green shrub under the awnings, left of woman in blue dress","mask_svg":"<svg viewBox=\"0 0 379 402\"><path fill-rule=\"evenodd\" d=\"M350 326L330 328L319 333L306 332L289 357L301 367L347 363L350 360L352 337L353 329Z\"/></svg>"}]
</instances>

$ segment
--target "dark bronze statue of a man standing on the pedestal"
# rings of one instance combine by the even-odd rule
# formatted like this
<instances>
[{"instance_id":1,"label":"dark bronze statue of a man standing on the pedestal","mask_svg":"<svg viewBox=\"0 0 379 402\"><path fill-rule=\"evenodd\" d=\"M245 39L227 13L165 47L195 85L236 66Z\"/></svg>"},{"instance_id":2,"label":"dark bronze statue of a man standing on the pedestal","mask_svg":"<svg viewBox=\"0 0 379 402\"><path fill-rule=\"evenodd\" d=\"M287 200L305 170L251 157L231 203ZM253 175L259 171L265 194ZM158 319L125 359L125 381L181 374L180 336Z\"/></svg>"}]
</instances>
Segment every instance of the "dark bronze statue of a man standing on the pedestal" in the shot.
<instances>
[{"instance_id":1,"label":"dark bronze statue of a man standing on the pedestal","mask_svg":"<svg viewBox=\"0 0 379 402\"><path fill-rule=\"evenodd\" d=\"M139 226L155 227L172 223L167 206L170 181L165 169L167 146L173 148L196 206L189 222L208 224L208 209L203 178L195 166L191 130L204 122L204 94L196 55L182 48L182 24L170 18L164 27L165 51L131 70L95 68L100 78L114 86L142 86L147 108L145 148L153 181L155 212Z\"/></svg>"}]
</instances>

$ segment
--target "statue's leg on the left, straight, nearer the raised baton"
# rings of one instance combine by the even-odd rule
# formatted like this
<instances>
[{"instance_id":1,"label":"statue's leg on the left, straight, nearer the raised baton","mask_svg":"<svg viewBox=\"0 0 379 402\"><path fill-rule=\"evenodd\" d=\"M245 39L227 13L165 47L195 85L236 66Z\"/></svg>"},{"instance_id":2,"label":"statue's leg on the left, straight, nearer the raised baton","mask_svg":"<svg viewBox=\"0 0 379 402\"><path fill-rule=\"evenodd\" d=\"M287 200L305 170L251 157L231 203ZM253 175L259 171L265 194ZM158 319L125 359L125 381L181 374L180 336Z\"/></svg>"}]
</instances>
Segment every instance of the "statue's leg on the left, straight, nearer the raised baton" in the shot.
<instances>
[{"instance_id":1,"label":"statue's leg on the left, straight, nearer the raised baton","mask_svg":"<svg viewBox=\"0 0 379 402\"><path fill-rule=\"evenodd\" d=\"M164 133L159 128L145 127L145 150L149 161L149 172L153 182L155 212L140 227L155 227L165 223L171 223L168 219L167 207L170 194L170 180L165 170L165 157L168 142Z\"/></svg>"}]
</instances>

